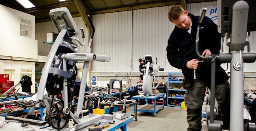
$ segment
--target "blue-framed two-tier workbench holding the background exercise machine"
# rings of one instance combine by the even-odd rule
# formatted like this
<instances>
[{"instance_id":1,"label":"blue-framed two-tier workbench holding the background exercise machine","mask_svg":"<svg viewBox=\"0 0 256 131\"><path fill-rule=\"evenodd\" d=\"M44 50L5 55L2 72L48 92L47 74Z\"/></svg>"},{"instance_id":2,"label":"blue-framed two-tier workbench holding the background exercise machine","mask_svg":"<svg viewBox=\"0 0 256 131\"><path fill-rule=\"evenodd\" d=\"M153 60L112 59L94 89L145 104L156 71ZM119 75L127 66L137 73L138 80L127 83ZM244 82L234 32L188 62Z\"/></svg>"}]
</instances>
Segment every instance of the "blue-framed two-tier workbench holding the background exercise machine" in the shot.
<instances>
[{"instance_id":1,"label":"blue-framed two-tier workbench holding the background exercise machine","mask_svg":"<svg viewBox=\"0 0 256 131\"><path fill-rule=\"evenodd\" d=\"M165 99L163 99L163 104L161 105L157 105L156 104L156 99L160 98L160 97L164 97L165 93L155 93L155 96L150 96L150 97L139 97L139 95L135 95L132 97L132 99L144 99L146 101L146 104L144 104L143 106L139 107L138 109L137 106L134 105L134 111L139 111L139 112L149 112L149 113L154 113L154 115L156 116L156 112L159 111L159 109L165 107ZM147 100L154 100L154 104L148 104Z\"/></svg>"}]
</instances>

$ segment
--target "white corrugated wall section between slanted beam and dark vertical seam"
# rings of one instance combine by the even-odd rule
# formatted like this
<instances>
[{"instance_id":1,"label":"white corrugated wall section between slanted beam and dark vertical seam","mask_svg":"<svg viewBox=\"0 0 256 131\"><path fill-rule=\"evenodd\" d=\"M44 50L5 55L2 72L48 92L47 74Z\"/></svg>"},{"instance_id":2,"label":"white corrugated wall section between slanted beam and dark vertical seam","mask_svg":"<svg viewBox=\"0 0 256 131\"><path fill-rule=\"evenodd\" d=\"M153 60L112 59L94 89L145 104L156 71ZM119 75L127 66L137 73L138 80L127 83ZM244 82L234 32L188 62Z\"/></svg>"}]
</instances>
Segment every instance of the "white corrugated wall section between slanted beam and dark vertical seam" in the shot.
<instances>
[{"instance_id":1,"label":"white corrugated wall section between slanted beam and dark vertical seam","mask_svg":"<svg viewBox=\"0 0 256 131\"><path fill-rule=\"evenodd\" d=\"M93 71L130 71L132 60L132 11L93 15L93 53L111 61L93 62Z\"/></svg>"}]
</instances>

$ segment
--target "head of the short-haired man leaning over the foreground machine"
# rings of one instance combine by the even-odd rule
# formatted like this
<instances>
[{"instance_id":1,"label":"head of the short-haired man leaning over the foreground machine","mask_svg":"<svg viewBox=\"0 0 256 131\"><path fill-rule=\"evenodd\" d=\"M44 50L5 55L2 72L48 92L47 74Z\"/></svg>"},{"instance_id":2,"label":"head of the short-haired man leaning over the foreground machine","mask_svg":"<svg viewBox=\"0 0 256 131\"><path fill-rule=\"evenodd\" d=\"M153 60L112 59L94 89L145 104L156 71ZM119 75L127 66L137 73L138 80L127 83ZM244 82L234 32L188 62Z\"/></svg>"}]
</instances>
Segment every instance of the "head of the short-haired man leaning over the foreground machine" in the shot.
<instances>
[{"instance_id":1,"label":"head of the short-haired man leaning over the foreground machine","mask_svg":"<svg viewBox=\"0 0 256 131\"><path fill-rule=\"evenodd\" d=\"M174 5L168 11L168 19L181 29L188 30L190 28L190 18L188 11L185 11L180 5Z\"/></svg>"}]
</instances>

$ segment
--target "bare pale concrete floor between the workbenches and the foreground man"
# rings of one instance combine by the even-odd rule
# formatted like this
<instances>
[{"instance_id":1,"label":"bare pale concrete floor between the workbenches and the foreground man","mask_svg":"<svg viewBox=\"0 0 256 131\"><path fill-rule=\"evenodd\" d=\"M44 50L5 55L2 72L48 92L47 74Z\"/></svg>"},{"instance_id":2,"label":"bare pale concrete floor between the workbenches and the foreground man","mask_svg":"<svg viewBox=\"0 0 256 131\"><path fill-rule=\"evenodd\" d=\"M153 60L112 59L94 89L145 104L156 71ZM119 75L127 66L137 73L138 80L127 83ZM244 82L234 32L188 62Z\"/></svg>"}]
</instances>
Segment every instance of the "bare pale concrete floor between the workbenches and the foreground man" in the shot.
<instances>
[{"instance_id":1,"label":"bare pale concrete floor between the workbenches and the foreground man","mask_svg":"<svg viewBox=\"0 0 256 131\"><path fill-rule=\"evenodd\" d=\"M142 106L142 105L138 105ZM133 106L127 108L127 111L133 113ZM186 120L186 109L165 106L157 112L154 117L152 113L138 112L137 121L128 124L128 131L187 131L188 123ZM202 123L202 131L208 131L206 122ZM117 131L121 131L118 129Z\"/></svg>"}]
</instances>

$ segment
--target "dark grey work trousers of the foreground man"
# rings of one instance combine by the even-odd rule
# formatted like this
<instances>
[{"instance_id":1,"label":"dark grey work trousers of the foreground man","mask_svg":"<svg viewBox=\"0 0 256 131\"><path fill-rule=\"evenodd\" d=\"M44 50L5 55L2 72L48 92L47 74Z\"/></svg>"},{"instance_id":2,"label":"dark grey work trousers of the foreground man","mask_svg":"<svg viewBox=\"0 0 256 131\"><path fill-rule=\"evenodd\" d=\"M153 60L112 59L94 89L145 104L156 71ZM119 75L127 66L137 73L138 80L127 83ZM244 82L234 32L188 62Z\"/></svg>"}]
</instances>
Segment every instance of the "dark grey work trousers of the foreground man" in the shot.
<instances>
[{"instance_id":1,"label":"dark grey work trousers of the foreground man","mask_svg":"<svg viewBox=\"0 0 256 131\"><path fill-rule=\"evenodd\" d=\"M200 79L193 79L191 87L186 90L185 105L187 106L188 131L201 131L202 129L202 106L206 87L210 87L210 84ZM215 98L221 109L223 127L229 129L230 88L227 82L216 83Z\"/></svg>"}]
</instances>

